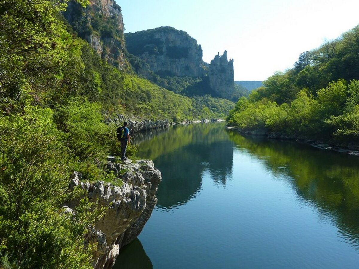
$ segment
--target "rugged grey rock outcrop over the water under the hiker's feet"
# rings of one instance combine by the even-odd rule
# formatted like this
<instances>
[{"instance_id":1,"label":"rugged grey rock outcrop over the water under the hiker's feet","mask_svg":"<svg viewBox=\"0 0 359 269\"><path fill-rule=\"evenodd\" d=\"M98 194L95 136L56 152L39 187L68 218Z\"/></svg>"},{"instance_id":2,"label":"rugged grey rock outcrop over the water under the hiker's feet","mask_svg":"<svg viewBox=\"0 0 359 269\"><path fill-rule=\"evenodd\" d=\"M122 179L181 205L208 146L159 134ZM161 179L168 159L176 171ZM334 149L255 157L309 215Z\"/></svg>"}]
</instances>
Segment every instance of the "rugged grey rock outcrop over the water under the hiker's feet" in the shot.
<instances>
[{"instance_id":1,"label":"rugged grey rock outcrop over the water under the hiker's feet","mask_svg":"<svg viewBox=\"0 0 359 269\"><path fill-rule=\"evenodd\" d=\"M129 244L142 231L157 203L155 196L161 173L150 160L114 163L114 157L107 162L107 170L122 179L121 187L97 181L81 181L81 174L75 172L69 188L79 187L86 191L90 201L98 200L99 206L106 207L105 216L85 237L85 244L97 242L93 253L93 267L112 268L121 247ZM120 171L126 171L120 174ZM76 201L66 204L65 212L72 212Z\"/></svg>"}]
</instances>

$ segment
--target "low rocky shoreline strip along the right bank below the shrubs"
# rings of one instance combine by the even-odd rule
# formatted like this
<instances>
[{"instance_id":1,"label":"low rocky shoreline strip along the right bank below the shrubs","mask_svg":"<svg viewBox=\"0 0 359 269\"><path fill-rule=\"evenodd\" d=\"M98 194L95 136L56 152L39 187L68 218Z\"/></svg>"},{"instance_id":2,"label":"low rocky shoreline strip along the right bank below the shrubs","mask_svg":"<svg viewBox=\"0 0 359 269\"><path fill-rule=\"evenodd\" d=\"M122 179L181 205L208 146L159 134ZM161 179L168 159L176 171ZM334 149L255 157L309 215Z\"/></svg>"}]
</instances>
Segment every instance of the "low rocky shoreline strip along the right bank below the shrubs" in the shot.
<instances>
[{"instance_id":1,"label":"low rocky shoreline strip along the right bank below the shrubs","mask_svg":"<svg viewBox=\"0 0 359 269\"><path fill-rule=\"evenodd\" d=\"M359 156L359 145L356 145L354 142L338 144L332 141L324 142L324 141L311 140L307 137L291 136L291 135L284 135L280 133L268 132L264 129L244 131L243 129L235 126L226 126L226 128L229 130L237 131L244 135L266 136L269 139L277 139L277 140L292 140L300 143L305 143L312 147L320 148L322 150L330 150L330 151L340 152L343 154Z\"/></svg>"}]
</instances>

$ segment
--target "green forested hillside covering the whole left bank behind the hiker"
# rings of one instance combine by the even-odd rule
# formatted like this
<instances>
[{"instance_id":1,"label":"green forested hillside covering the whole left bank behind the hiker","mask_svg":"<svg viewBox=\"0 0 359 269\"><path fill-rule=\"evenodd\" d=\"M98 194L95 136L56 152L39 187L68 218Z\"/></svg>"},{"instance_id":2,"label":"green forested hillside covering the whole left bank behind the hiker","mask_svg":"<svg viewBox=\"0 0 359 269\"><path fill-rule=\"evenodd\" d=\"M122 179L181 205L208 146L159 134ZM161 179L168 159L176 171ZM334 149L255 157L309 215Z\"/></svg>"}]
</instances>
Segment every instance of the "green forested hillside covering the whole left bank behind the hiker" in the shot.
<instances>
[{"instance_id":1,"label":"green forested hillside covering the whole left bank behind the hiker","mask_svg":"<svg viewBox=\"0 0 359 269\"><path fill-rule=\"evenodd\" d=\"M78 37L62 16L66 6L0 2L1 268L91 268L96 246L84 245L84 234L102 213L68 187L73 171L90 182L113 182L103 167L120 147L104 114L183 121L223 117L233 108L228 100L188 98L120 70L121 57L107 61ZM78 206L65 214L61 205L74 199Z\"/></svg>"}]
</instances>

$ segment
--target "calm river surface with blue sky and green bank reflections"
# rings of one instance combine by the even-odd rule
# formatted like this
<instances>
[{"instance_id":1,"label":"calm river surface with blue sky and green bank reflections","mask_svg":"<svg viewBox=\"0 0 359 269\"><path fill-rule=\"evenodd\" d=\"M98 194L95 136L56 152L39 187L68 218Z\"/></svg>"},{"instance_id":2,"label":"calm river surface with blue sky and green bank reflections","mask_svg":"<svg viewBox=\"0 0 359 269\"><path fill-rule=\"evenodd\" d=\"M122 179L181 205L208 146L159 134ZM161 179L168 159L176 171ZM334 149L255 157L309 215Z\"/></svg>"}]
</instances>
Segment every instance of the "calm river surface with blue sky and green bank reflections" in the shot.
<instances>
[{"instance_id":1,"label":"calm river surface with blue sky and green bank reflections","mask_svg":"<svg viewBox=\"0 0 359 269\"><path fill-rule=\"evenodd\" d=\"M224 123L139 133L158 203L115 268L358 268L359 158Z\"/></svg>"}]
</instances>

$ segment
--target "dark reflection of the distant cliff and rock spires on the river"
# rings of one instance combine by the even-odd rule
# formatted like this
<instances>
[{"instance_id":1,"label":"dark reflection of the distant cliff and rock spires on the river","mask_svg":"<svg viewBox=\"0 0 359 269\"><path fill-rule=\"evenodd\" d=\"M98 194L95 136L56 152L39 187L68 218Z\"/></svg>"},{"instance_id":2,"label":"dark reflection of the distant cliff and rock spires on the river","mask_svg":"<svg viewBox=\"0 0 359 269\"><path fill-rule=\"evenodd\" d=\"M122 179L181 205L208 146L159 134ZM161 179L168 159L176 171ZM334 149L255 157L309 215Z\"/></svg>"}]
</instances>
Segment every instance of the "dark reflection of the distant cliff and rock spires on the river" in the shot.
<instances>
[{"instance_id":1,"label":"dark reflection of the distant cliff and rock spires on the river","mask_svg":"<svg viewBox=\"0 0 359 269\"><path fill-rule=\"evenodd\" d=\"M151 158L162 173L157 205L172 208L185 204L201 188L208 170L216 183L225 185L232 175L233 142L224 123L174 126L140 143L139 156Z\"/></svg>"}]
</instances>

